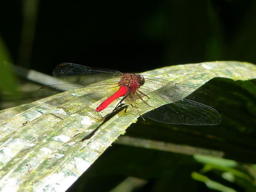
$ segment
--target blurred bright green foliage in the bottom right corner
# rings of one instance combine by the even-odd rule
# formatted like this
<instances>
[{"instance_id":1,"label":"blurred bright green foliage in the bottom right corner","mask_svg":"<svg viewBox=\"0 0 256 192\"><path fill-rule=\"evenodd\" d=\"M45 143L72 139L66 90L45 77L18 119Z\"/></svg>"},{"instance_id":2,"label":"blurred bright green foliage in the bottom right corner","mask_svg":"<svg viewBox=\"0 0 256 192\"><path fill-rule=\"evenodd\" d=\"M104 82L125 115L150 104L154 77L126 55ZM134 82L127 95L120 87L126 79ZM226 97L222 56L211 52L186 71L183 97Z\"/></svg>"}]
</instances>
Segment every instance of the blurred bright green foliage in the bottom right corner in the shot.
<instances>
[{"instance_id":1,"label":"blurred bright green foliage in the bottom right corner","mask_svg":"<svg viewBox=\"0 0 256 192\"><path fill-rule=\"evenodd\" d=\"M248 192L256 190L254 183L256 170L253 165L205 156L194 156L194 158L204 166L199 173L193 172L191 177L204 182L207 187L225 192L239 191L237 190L239 188Z\"/></svg>"}]
</instances>

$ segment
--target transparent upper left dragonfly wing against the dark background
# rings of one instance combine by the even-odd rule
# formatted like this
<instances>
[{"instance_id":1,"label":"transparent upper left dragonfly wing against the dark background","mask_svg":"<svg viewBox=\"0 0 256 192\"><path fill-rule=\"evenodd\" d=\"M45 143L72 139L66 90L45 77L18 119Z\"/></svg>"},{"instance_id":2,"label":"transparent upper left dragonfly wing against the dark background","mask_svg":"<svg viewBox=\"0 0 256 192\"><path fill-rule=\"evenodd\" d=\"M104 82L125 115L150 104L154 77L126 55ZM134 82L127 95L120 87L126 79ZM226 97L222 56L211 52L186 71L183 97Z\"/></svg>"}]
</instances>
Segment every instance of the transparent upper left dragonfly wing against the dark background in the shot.
<instances>
[{"instance_id":1,"label":"transparent upper left dragonfly wing against the dark background","mask_svg":"<svg viewBox=\"0 0 256 192\"><path fill-rule=\"evenodd\" d=\"M93 84L113 77L122 77L122 73L117 70L91 68L74 63L61 63L52 74L53 77L74 84Z\"/></svg>"}]
</instances>

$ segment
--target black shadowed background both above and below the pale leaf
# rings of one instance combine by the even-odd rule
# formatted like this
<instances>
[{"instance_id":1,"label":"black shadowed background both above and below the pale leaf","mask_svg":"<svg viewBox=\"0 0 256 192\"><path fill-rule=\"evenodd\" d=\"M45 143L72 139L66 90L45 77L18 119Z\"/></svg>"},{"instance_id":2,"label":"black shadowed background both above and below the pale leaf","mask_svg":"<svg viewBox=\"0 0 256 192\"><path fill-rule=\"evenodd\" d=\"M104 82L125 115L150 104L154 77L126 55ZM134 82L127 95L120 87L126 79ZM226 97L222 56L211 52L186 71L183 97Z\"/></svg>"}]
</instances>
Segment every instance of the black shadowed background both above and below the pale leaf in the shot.
<instances>
[{"instance_id":1,"label":"black shadowed background both above and below the pale leaf","mask_svg":"<svg viewBox=\"0 0 256 192\"><path fill-rule=\"evenodd\" d=\"M256 63L253 0L0 0L0 25L0 61L46 74L61 62L122 72L216 60ZM0 71L3 84L2 76ZM216 108L220 126L191 129L139 121L126 135L196 147L207 144L225 151L226 158L245 161L247 156L241 154L247 154L253 158L245 162L255 163L255 82L219 79L211 85L221 98ZM222 164L202 172L209 164L189 155L114 144L69 191L108 191L127 177L147 181L138 191L217 191L193 178L194 171L236 191L255 191L254 179L239 178L243 184L224 180ZM235 171L225 169L250 171L237 164Z\"/></svg>"}]
</instances>

